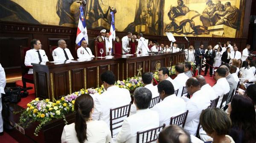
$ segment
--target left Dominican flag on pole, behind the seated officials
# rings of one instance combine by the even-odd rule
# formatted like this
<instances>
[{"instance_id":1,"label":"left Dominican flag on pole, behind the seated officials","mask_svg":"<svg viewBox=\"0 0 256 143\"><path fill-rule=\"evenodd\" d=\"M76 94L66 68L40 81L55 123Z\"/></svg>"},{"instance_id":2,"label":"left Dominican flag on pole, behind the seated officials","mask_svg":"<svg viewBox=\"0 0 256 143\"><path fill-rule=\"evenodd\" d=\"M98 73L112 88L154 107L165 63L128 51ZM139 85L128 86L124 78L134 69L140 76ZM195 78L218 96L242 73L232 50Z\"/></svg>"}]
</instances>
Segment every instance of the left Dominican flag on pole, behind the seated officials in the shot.
<instances>
[{"instance_id":1,"label":"left Dominican flag on pole, behind the seated officials","mask_svg":"<svg viewBox=\"0 0 256 143\"><path fill-rule=\"evenodd\" d=\"M78 22L78 27L77 27L77 32L76 32L76 45L81 45L81 42L83 40L86 40L88 43L88 35L87 35L87 29L85 25L85 19L84 19L84 11L83 7L80 6L79 10L81 12L79 22Z\"/></svg>"}]
</instances>

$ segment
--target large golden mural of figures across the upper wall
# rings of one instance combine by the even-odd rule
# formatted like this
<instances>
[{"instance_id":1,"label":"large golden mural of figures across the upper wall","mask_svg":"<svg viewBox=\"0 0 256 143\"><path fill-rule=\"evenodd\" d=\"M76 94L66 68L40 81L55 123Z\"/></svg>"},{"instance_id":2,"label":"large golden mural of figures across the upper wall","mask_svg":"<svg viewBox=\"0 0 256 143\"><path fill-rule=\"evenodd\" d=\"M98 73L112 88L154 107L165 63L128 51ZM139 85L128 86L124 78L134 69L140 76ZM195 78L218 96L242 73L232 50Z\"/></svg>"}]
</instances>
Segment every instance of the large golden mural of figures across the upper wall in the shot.
<instances>
[{"instance_id":1,"label":"large golden mural of figures across the upper wall","mask_svg":"<svg viewBox=\"0 0 256 143\"><path fill-rule=\"evenodd\" d=\"M0 20L76 27L78 0L1 0ZM243 0L82 0L87 28L151 35L239 37Z\"/></svg>"}]
</instances>

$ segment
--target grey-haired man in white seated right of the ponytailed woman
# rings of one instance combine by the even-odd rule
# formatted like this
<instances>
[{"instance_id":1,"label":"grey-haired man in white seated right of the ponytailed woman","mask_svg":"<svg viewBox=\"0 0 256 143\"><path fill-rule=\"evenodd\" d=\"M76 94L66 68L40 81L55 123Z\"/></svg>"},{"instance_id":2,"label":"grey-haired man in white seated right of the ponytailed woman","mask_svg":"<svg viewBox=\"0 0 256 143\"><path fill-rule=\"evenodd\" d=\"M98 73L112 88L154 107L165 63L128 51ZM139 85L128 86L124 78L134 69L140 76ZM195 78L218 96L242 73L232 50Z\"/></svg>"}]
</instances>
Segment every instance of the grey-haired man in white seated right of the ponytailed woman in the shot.
<instances>
[{"instance_id":1,"label":"grey-haired man in white seated right of the ponytailed woman","mask_svg":"<svg viewBox=\"0 0 256 143\"><path fill-rule=\"evenodd\" d=\"M134 91L137 113L124 120L121 131L116 136L116 143L136 143L137 132L159 127L159 115L148 109L151 99L152 94L145 87L138 87Z\"/></svg>"}]
</instances>

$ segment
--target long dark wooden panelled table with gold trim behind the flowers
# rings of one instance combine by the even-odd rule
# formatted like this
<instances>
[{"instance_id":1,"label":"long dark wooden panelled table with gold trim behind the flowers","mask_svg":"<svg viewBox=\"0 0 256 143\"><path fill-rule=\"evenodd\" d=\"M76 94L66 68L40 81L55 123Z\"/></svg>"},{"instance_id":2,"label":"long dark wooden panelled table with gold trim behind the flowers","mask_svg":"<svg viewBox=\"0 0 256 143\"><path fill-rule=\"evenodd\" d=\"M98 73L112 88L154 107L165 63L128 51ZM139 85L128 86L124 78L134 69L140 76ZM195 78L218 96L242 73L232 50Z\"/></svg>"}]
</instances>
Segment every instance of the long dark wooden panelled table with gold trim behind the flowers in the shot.
<instances>
[{"instance_id":1,"label":"long dark wooden panelled table with gold trim behind the flowers","mask_svg":"<svg viewBox=\"0 0 256 143\"><path fill-rule=\"evenodd\" d=\"M116 55L113 58L93 58L80 62L46 62L32 64L37 97L58 99L62 95L82 88L96 88L102 84L100 74L111 70L116 80L137 76L139 71L154 72L184 62L185 53L159 53L154 55Z\"/></svg>"}]
</instances>

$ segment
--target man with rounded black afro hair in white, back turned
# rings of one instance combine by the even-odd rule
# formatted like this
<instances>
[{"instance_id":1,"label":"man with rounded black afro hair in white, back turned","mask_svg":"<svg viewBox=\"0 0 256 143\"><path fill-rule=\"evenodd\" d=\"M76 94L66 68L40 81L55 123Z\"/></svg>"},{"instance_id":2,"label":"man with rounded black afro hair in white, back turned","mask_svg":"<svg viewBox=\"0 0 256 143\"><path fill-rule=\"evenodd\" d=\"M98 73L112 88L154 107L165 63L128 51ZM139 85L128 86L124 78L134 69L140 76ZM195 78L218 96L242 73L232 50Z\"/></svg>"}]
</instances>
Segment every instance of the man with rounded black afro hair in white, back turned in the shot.
<instances>
[{"instance_id":1,"label":"man with rounded black afro hair in white, back turned","mask_svg":"<svg viewBox=\"0 0 256 143\"><path fill-rule=\"evenodd\" d=\"M158 112L160 126L164 123L168 126L171 117L186 112L186 102L174 94L174 87L168 80L160 81L157 88L162 102L156 104L151 110Z\"/></svg>"}]
</instances>

